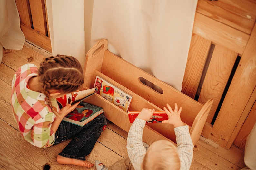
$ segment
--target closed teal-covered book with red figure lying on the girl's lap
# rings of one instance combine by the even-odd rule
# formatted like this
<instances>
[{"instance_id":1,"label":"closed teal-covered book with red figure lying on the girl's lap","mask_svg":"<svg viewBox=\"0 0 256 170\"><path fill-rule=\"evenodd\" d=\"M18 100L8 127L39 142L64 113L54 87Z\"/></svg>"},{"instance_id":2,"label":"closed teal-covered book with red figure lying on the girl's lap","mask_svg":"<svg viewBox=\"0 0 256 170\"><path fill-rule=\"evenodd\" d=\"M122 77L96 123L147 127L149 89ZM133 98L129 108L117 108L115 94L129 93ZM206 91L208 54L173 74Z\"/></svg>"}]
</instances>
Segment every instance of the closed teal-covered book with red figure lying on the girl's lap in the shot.
<instances>
[{"instance_id":1,"label":"closed teal-covered book with red figure lying on the girl's lap","mask_svg":"<svg viewBox=\"0 0 256 170\"><path fill-rule=\"evenodd\" d=\"M67 121L78 126L84 126L103 112L102 107L80 102L72 112L68 113L63 118L63 121Z\"/></svg>"}]
</instances>

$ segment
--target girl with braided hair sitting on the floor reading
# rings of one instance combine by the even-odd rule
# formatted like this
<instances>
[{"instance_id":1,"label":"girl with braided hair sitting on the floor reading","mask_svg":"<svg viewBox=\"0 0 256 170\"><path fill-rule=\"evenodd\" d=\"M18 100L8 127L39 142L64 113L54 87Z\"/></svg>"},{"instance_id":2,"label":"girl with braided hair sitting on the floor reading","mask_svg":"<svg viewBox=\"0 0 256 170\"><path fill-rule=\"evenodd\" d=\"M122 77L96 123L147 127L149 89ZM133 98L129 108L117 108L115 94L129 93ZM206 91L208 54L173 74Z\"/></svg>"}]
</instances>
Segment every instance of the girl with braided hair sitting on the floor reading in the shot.
<instances>
[{"instance_id":1,"label":"girl with braided hair sitting on the floor reading","mask_svg":"<svg viewBox=\"0 0 256 170\"><path fill-rule=\"evenodd\" d=\"M72 138L57 156L60 164L92 167L85 160L106 127L103 114L83 127L62 119L77 105L59 108L56 98L78 91L84 83L79 61L72 56L45 58L36 67L25 64L12 80L11 105L20 134L32 145L46 148Z\"/></svg>"}]
</instances>

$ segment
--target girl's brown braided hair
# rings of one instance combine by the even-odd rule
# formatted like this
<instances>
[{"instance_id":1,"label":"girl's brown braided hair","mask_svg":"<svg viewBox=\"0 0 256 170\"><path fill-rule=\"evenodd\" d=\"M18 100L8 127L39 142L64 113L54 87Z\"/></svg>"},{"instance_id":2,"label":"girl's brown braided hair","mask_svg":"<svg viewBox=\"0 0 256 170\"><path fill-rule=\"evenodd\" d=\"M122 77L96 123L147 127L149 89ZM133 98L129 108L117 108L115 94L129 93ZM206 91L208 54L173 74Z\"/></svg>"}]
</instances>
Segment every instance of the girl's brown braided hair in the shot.
<instances>
[{"instance_id":1,"label":"girl's brown braided hair","mask_svg":"<svg viewBox=\"0 0 256 170\"><path fill-rule=\"evenodd\" d=\"M83 69L79 61L72 56L59 54L45 58L40 63L38 77L42 84L42 93L45 94L51 108L53 106L49 89L67 94L79 90L84 83Z\"/></svg>"}]
</instances>

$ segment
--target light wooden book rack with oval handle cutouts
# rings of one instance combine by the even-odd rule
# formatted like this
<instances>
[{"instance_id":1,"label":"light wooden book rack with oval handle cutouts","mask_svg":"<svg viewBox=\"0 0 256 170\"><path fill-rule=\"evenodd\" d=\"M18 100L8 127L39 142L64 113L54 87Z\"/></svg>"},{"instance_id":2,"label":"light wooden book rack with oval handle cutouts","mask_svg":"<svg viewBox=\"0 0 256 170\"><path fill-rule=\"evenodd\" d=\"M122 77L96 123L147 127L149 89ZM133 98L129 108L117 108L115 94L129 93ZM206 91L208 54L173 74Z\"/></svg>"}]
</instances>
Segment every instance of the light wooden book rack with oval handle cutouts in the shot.
<instances>
[{"instance_id":1,"label":"light wooden book rack with oval handle cutouts","mask_svg":"<svg viewBox=\"0 0 256 170\"><path fill-rule=\"evenodd\" d=\"M163 111L166 103L169 103L172 107L174 107L174 103L177 103L178 107L182 107L181 120L189 126L190 135L195 145L199 140L213 100L210 99L203 105L114 55L107 50L107 47L108 40L102 39L88 51L84 65L84 89L93 88L95 78L99 75L133 96L130 111L140 111L144 107ZM141 80L146 80L153 86L157 86L160 92ZM98 94L89 97L86 102L103 107L104 115L109 121L123 130L129 131L131 124L127 112ZM143 141L150 145L159 139L170 139L176 143L173 126L170 124L147 123L144 128Z\"/></svg>"}]
</instances>

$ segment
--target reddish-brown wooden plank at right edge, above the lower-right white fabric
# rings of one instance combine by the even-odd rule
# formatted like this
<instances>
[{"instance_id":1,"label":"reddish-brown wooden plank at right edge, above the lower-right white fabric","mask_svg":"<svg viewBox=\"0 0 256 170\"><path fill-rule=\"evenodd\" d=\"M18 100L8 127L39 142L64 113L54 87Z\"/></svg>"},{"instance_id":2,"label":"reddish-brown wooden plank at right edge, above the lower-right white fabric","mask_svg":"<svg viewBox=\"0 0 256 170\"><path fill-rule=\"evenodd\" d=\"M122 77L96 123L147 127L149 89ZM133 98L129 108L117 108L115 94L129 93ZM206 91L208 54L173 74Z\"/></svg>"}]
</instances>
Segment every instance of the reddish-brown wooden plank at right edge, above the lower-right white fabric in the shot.
<instances>
[{"instance_id":1,"label":"reddish-brown wooden plank at right edge, above the lower-right white fabric","mask_svg":"<svg viewBox=\"0 0 256 170\"><path fill-rule=\"evenodd\" d=\"M242 149L245 148L246 138L251 132L255 123L256 123L256 103L253 104L251 111L248 114L248 117L244 121L244 124L241 130L239 131L237 138L234 141L234 144L236 146Z\"/></svg>"}]
</instances>

